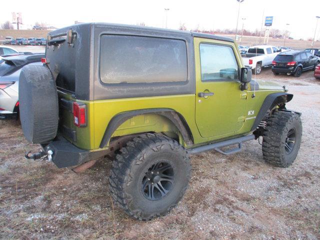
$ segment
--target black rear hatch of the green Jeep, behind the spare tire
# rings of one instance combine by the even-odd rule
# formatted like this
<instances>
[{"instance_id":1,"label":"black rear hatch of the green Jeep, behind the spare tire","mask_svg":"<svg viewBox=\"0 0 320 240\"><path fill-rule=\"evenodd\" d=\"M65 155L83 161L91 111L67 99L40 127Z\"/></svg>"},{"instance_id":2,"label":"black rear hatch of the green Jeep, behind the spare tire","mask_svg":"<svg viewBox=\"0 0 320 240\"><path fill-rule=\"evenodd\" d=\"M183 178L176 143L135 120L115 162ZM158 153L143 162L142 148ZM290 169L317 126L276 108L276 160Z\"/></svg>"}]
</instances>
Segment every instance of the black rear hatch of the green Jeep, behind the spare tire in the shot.
<instances>
[{"instance_id":1,"label":"black rear hatch of the green Jeep, behind the spare tire","mask_svg":"<svg viewBox=\"0 0 320 240\"><path fill-rule=\"evenodd\" d=\"M75 145L81 144L77 135L84 129L73 123L72 103L89 100L91 27L78 24L50 32L45 52L58 90L59 130Z\"/></svg>"}]
</instances>

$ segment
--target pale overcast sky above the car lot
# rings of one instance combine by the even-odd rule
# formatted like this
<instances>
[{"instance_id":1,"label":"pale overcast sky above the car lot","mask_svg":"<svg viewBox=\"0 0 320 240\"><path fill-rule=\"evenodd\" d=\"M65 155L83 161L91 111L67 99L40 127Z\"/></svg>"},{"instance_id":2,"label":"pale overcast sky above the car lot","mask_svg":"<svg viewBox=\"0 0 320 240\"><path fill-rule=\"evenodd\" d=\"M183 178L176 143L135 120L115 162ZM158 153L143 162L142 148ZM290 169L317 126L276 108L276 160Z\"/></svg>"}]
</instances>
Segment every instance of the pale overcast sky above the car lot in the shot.
<instances>
[{"instance_id":1,"label":"pale overcast sky above the car lot","mask_svg":"<svg viewBox=\"0 0 320 240\"><path fill-rule=\"evenodd\" d=\"M79 22L112 22L177 29L184 23L187 29L235 28L237 0L86 0L86 1L3 1L0 7L0 23L11 20L11 12L21 12L25 26L35 21L63 27ZM261 28L262 15L273 16L272 28L291 32L294 38L313 37L316 15L320 16L320 0L244 0L240 3L238 29ZM289 23L289 25L286 25ZM320 19L316 39L320 38Z\"/></svg>"}]
</instances>

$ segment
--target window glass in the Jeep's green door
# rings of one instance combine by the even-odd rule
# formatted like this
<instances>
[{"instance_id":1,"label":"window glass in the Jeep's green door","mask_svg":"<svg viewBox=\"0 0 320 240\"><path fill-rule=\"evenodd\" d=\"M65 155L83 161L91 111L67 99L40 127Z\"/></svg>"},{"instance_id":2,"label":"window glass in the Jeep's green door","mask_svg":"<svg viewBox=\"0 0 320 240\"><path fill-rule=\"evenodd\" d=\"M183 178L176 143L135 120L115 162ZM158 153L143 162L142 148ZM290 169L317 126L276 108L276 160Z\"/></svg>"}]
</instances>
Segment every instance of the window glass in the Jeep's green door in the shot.
<instances>
[{"instance_id":1,"label":"window glass in the Jeep's green door","mask_svg":"<svg viewBox=\"0 0 320 240\"><path fill-rule=\"evenodd\" d=\"M201 81L238 79L238 64L230 46L200 44Z\"/></svg>"}]
</instances>

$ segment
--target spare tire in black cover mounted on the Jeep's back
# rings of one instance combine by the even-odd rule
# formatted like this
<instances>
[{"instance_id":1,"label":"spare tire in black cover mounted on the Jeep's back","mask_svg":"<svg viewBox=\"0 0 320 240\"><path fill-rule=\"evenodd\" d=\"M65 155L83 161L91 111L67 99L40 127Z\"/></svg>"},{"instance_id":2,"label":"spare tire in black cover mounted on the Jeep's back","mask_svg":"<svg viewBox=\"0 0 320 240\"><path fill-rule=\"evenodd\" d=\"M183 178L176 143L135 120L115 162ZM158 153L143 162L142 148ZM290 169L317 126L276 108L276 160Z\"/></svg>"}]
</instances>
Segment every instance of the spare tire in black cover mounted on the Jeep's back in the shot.
<instances>
[{"instance_id":1,"label":"spare tire in black cover mounted on the Jeep's back","mask_svg":"<svg viewBox=\"0 0 320 240\"><path fill-rule=\"evenodd\" d=\"M31 143L47 143L58 128L58 98L48 67L26 65L19 77L19 114L22 131Z\"/></svg>"}]
</instances>

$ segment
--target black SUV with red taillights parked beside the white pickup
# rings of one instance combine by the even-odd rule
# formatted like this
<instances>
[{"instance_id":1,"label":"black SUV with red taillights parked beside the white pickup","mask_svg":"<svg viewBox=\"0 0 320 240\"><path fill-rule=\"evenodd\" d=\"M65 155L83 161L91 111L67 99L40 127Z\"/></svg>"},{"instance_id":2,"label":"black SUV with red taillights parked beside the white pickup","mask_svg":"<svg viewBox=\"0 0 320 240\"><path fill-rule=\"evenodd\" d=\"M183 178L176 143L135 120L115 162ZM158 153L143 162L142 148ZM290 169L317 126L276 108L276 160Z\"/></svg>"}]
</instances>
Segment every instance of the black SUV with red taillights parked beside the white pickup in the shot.
<instances>
[{"instance_id":1,"label":"black SUV with red taillights parked beside the white pickup","mask_svg":"<svg viewBox=\"0 0 320 240\"><path fill-rule=\"evenodd\" d=\"M319 62L320 59L308 51L290 50L275 56L271 70L274 75L286 73L299 77L302 71L314 69Z\"/></svg>"}]
</instances>

